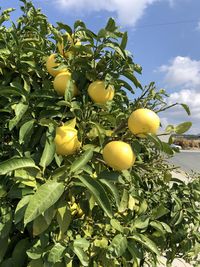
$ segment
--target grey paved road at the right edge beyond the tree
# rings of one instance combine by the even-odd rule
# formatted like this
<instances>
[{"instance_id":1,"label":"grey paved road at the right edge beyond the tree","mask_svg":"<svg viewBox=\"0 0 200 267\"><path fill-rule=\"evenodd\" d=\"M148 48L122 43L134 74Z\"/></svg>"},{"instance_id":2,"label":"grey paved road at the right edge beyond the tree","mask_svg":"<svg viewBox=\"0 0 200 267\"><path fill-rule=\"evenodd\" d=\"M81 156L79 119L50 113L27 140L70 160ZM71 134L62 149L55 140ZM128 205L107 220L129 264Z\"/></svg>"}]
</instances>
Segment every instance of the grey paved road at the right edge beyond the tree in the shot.
<instances>
[{"instance_id":1,"label":"grey paved road at the right edge beyond the tree","mask_svg":"<svg viewBox=\"0 0 200 267\"><path fill-rule=\"evenodd\" d=\"M181 151L176 153L175 156L170 159L174 165L181 167L182 170L190 172L200 172L200 152L198 151Z\"/></svg>"}]
</instances>

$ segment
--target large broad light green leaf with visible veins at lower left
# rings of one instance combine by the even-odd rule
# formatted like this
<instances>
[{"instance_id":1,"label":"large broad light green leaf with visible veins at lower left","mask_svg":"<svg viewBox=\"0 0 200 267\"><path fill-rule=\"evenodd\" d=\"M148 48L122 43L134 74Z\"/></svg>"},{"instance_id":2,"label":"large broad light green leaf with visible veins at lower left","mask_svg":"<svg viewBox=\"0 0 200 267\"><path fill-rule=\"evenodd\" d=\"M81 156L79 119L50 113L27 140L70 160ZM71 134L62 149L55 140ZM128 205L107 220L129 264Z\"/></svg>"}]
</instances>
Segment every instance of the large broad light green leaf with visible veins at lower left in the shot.
<instances>
[{"instance_id":1,"label":"large broad light green leaf with visible veins at lower left","mask_svg":"<svg viewBox=\"0 0 200 267\"><path fill-rule=\"evenodd\" d=\"M64 192L64 185L56 181L47 181L41 185L31 197L26 208L24 224L33 221L60 198Z\"/></svg>"}]
</instances>

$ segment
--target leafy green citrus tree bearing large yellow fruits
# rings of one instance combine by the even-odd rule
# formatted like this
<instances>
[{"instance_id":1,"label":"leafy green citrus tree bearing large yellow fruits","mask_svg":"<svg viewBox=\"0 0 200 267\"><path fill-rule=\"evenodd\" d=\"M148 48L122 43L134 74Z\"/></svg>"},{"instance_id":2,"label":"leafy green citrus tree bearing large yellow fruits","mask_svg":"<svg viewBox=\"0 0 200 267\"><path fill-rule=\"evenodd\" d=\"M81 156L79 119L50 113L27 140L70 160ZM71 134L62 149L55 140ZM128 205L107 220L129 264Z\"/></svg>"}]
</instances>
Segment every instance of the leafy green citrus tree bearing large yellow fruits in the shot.
<instances>
[{"instance_id":1,"label":"leafy green citrus tree bearing large yellow fruits","mask_svg":"<svg viewBox=\"0 0 200 267\"><path fill-rule=\"evenodd\" d=\"M53 26L20 3L0 16L0 266L198 266L199 175L175 179L158 135L188 130L158 132L189 108L139 82L113 19Z\"/></svg>"}]
</instances>

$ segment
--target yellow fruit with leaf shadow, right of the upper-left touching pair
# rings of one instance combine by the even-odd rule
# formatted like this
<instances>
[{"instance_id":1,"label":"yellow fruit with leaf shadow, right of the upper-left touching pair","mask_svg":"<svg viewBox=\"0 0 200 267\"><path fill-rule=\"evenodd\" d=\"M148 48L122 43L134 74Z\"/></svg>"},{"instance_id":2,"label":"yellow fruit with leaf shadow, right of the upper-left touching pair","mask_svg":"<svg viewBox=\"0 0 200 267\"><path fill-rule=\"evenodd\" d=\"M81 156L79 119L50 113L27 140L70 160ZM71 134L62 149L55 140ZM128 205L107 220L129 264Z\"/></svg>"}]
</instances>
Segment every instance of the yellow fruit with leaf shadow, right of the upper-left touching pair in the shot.
<instances>
[{"instance_id":1,"label":"yellow fruit with leaf shadow, right of the upper-left touching pair","mask_svg":"<svg viewBox=\"0 0 200 267\"><path fill-rule=\"evenodd\" d=\"M114 97L114 88L109 85L107 88L104 81L95 81L88 87L88 94L94 103L105 104Z\"/></svg>"}]
</instances>

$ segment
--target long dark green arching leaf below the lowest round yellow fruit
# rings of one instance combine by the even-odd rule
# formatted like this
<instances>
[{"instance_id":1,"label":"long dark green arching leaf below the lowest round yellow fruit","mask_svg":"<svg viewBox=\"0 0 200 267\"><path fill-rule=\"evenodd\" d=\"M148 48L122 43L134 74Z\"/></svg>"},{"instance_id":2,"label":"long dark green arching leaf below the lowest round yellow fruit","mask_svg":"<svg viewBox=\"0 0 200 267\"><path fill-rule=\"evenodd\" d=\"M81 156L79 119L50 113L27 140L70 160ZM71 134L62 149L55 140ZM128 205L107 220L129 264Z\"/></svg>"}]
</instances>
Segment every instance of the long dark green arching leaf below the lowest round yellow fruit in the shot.
<instances>
[{"instance_id":1,"label":"long dark green arching leaf below the lowest round yellow fruit","mask_svg":"<svg viewBox=\"0 0 200 267\"><path fill-rule=\"evenodd\" d=\"M111 218L112 217L112 208L110 205L110 200L105 192L103 186L93 178L89 176L77 176L77 178L88 188L88 190L93 194L97 203L105 211L105 213Z\"/></svg>"}]
</instances>

